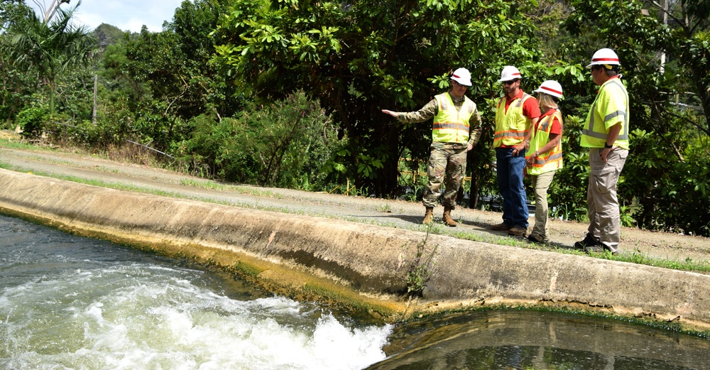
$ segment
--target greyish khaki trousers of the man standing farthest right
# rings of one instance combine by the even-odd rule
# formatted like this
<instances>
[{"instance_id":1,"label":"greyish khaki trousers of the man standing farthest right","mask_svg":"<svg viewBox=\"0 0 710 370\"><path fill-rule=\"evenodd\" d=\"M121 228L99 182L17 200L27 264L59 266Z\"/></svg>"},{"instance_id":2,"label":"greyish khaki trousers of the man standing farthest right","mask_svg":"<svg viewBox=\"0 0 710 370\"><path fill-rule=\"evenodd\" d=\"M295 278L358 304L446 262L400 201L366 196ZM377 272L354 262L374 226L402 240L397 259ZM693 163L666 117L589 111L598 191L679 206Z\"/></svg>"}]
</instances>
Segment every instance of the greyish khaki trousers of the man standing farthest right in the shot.
<instances>
[{"instance_id":1,"label":"greyish khaki trousers of the man standing farthest right","mask_svg":"<svg viewBox=\"0 0 710 370\"><path fill-rule=\"evenodd\" d=\"M621 241L621 218L616 197L618 182L628 151L613 148L607 161L601 159L601 148L589 149L589 187L586 201L589 203L589 234L598 236L601 243L616 252Z\"/></svg>"}]
</instances>

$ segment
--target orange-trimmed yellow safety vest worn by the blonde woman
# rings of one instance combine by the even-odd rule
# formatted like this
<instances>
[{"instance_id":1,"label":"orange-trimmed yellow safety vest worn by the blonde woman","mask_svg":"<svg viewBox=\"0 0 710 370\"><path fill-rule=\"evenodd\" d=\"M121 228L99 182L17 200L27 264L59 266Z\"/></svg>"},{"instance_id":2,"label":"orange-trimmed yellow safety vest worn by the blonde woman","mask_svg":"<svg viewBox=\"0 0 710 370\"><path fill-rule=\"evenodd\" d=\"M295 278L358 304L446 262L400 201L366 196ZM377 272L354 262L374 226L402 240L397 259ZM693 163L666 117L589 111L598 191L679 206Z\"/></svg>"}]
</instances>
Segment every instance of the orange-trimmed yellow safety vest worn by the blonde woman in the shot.
<instances>
[{"instance_id":1,"label":"orange-trimmed yellow safety vest worn by the blonde woman","mask_svg":"<svg viewBox=\"0 0 710 370\"><path fill-rule=\"evenodd\" d=\"M537 130L532 132L530 148L528 152L525 153L525 158L532 156L535 151L538 151L538 156L535 158L535 163L532 164L532 168L528 167L528 174L530 175L540 175L540 173L562 168L562 140L558 141L557 146L550 149L550 151L546 153L539 152L540 148L550 142L550 131L552 131L552 121L555 121L555 117L557 117L559 123L562 124L562 114L556 109L555 113L543 117L540 122L537 123Z\"/></svg>"}]
</instances>

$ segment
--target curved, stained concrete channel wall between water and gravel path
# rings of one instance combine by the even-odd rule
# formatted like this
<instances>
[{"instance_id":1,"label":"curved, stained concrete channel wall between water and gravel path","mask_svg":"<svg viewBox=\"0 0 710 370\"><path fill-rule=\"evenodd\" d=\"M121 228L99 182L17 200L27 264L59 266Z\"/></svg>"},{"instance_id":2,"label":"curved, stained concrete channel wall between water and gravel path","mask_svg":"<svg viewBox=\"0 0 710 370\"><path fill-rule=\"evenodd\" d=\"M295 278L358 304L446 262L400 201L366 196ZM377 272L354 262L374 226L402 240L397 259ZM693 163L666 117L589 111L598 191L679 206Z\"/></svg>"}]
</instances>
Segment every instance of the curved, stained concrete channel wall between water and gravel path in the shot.
<instances>
[{"instance_id":1,"label":"curved, stained concrete channel wall between water and gravel path","mask_svg":"<svg viewBox=\"0 0 710 370\"><path fill-rule=\"evenodd\" d=\"M710 276L324 217L111 190L0 169L0 212L235 271L294 298L394 321L481 305L555 305L710 328ZM424 297L405 297L417 256Z\"/></svg>"}]
</instances>

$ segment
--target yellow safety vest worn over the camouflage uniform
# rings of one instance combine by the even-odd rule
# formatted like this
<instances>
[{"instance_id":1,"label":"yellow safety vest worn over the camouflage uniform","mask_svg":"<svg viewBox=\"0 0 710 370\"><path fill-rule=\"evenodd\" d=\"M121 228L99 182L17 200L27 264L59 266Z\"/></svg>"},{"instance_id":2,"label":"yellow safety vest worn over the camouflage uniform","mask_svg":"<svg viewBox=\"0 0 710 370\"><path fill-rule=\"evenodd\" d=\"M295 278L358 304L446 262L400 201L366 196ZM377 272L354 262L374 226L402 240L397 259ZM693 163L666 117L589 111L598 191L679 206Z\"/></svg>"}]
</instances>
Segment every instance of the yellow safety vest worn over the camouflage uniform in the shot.
<instances>
[{"instance_id":1,"label":"yellow safety vest worn over the camouflage uniform","mask_svg":"<svg viewBox=\"0 0 710 370\"><path fill-rule=\"evenodd\" d=\"M434 117L432 141L441 143L469 142L469 119L476 111L476 104L464 97L464 104L457 110L448 92L435 97L439 112Z\"/></svg>"}]
</instances>

